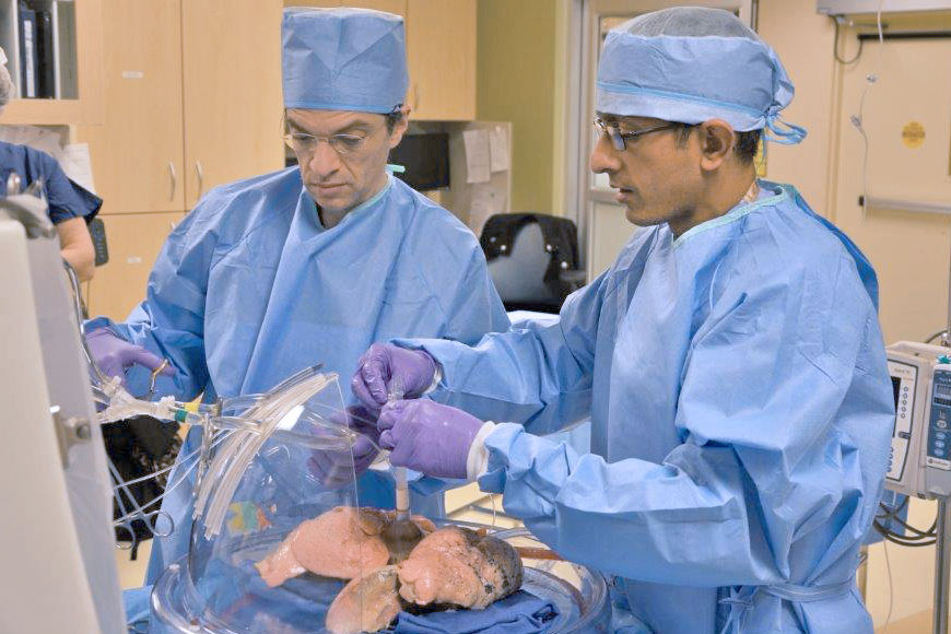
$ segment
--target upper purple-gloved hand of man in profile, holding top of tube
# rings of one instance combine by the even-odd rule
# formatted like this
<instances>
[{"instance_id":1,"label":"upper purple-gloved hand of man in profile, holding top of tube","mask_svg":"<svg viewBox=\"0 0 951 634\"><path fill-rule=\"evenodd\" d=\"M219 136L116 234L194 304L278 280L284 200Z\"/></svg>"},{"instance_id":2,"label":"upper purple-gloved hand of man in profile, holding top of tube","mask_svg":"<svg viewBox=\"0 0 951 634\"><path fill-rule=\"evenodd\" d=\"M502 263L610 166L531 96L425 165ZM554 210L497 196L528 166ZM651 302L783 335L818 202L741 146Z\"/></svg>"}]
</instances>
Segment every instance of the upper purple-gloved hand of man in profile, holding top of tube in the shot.
<instances>
[{"instance_id":1,"label":"upper purple-gloved hand of man in profile, holding top of tube","mask_svg":"<svg viewBox=\"0 0 951 634\"><path fill-rule=\"evenodd\" d=\"M390 392L400 399L422 395L435 375L436 362L427 352L374 343L360 357L351 389L363 404L378 410Z\"/></svg>"}]
</instances>

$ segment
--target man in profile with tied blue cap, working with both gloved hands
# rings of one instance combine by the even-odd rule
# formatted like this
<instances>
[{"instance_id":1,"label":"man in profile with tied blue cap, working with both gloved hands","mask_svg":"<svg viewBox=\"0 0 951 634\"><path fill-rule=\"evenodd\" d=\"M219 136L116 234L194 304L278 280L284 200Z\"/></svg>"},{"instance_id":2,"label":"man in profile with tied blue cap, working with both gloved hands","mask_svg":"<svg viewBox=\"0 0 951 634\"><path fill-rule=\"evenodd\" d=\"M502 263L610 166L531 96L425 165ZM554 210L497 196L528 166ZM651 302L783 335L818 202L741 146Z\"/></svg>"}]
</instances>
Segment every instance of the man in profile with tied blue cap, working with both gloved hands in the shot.
<instances>
[{"instance_id":1,"label":"man in profile with tied blue cap, working with both gloved hands","mask_svg":"<svg viewBox=\"0 0 951 634\"><path fill-rule=\"evenodd\" d=\"M791 97L726 11L611 31L590 162L644 228L556 325L375 344L353 378L369 403L436 379L383 410L390 460L504 493L610 577L618 632L872 632L854 575L894 421L876 274L755 177L762 130L805 136L779 119ZM590 454L539 436L588 412Z\"/></svg>"}]
</instances>

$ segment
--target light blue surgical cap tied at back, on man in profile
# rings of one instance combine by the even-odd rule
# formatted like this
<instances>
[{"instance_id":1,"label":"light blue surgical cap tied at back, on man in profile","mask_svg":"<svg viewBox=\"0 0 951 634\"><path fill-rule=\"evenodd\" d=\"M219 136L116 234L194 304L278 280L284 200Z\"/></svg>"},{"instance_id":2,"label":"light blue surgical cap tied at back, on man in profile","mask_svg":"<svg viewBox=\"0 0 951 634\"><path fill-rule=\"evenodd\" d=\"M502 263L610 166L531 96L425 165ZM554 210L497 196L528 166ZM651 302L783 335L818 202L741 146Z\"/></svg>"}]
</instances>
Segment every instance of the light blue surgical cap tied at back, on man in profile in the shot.
<instances>
[{"instance_id":1,"label":"light blue surgical cap tied at back, on man in profile","mask_svg":"<svg viewBox=\"0 0 951 634\"><path fill-rule=\"evenodd\" d=\"M792 92L779 58L736 15L677 7L608 33L596 107L682 124L723 119L738 132L766 128L771 140L791 144L806 137L779 118Z\"/></svg>"}]
</instances>

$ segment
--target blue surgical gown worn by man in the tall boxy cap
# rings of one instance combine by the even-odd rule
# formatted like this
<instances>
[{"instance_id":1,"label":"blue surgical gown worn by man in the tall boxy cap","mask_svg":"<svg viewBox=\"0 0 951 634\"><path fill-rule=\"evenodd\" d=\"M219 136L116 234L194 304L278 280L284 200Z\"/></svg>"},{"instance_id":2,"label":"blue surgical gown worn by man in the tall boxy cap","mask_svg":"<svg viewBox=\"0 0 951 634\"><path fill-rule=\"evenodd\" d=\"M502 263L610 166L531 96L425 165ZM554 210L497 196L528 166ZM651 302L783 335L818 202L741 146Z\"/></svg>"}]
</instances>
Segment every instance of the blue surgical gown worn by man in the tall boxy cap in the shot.
<instances>
[{"instance_id":1,"label":"blue surgical gown worn by man in the tall boxy cap","mask_svg":"<svg viewBox=\"0 0 951 634\"><path fill-rule=\"evenodd\" d=\"M478 240L449 212L389 178L326 230L294 167L209 192L168 237L145 301L124 324L96 319L87 329L102 326L174 364L174 381L160 379L158 396L203 392L210 401L267 391L318 362L349 394L356 362L374 341L474 343L506 330L508 318ZM144 394L148 377L130 369L130 391ZM180 455L200 442L192 430ZM192 478L163 501L175 531L154 540L149 584L188 550ZM360 501L392 506L391 482L366 473ZM442 509L435 495L414 495L412 504L418 513Z\"/></svg>"}]
</instances>

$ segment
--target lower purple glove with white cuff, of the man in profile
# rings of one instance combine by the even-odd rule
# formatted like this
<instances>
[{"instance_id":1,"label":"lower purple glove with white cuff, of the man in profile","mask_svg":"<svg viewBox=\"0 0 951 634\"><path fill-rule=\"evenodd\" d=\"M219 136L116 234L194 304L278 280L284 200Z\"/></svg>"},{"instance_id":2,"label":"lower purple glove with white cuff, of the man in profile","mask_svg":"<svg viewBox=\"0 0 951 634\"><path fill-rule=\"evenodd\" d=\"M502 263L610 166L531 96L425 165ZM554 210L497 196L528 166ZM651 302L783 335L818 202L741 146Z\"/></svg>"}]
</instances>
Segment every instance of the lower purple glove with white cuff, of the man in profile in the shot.
<instances>
[{"instance_id":1,"label":"lower purple glove with white cuff, of the man in profile","mask_svg":"<svg viewBox=\"0 0 951 634\"><path fill-rule=\"evenodd\" d=\"M469 447L482 427L476 416L428 399L394 401L383 408L379 446L389 461L437 478L466 478Z\"/></svg>"}]
</instances>

